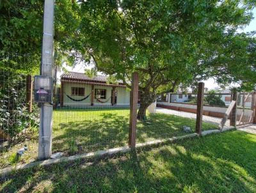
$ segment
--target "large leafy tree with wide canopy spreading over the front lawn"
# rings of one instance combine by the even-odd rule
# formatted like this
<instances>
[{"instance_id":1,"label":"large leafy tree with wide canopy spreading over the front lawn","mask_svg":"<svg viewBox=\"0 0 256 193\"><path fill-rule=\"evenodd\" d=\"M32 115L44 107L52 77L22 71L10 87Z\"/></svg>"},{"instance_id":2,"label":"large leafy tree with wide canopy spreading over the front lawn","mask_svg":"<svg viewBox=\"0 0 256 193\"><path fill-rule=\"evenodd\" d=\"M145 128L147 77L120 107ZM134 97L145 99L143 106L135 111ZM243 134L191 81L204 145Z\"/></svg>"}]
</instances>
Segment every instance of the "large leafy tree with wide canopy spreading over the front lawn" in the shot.
<instances>
[{"instance_id":1,"label":"large leafy tree with wide canopy spreading over the front lawn","mask_svg":"<svg viewBox=\"0 0 256 193\"><path fill-rule=\"evenodd\" d=\"M159 90L208 77L255 83L255 39L236 32L252 19L252 7L253 1L83 1L75 49L128 87L131 73L139 73L141 120Z\"/></svg>"}]
</instances>

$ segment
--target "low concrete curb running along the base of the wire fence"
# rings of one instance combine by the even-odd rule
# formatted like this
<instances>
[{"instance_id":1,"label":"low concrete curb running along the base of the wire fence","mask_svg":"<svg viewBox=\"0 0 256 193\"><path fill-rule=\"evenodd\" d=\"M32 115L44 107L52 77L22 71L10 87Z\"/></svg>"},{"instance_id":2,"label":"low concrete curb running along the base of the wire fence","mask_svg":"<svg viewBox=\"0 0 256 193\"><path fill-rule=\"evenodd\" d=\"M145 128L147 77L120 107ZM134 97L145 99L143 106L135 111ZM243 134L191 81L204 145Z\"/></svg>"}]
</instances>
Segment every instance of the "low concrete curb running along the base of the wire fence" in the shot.
<instances>
[{"instance_id":1,"label":"low concrete curb running along the base of the wire fence","mask_svg":"<svg viewBox=\"0 0 256 193\"><path fill-rule=\"evenodd\" d=\"M228 130L233 130L234 128L235 127L226 127L226 128L223 128L222 131L221 130L205 130L202 132L202 136L226 132ZM154 141L148 141L145 143L138 143L136 144L136 149L145 148L148 146L156 146L164 143L173 143L175 141L180 141L183 139L194 138L194 137L199 137L199 135L196 133L193 133L193 134L181 135L177 137L171 137L167 139L158 139ZM6 174L12 173L12 171L17 171L20 169L29 169L35 166L49 166L51 164L57 164L60 162L74 161L74 160L79 160L83 158L104 157L107 155L115 155L116 153L126 153L128 151L131 151L131 148L129 148L129 146L123 146L119 148L111 148L109 150L100 150L100 151L93 151L90 153L84 153L80 155L72 155L70 157L61 157L56 159L48 159L44 161L32 162L29 164L21 164L18 166L5 167L4 169L0 170L0 176L6 176Z\"/></svg>"}]
</instances>

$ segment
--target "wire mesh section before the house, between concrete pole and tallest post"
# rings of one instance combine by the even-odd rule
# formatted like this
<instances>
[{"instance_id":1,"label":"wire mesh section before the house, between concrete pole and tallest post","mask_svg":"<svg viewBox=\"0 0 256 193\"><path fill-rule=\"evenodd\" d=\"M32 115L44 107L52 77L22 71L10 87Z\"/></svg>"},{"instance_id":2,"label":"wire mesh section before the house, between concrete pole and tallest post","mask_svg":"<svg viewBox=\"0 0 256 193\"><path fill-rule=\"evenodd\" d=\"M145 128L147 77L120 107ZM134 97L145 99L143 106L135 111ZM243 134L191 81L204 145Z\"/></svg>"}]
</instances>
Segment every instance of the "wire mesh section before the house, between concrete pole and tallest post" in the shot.
<instances>
[{"instance_id":1,"label":"wire mesh section before the house, between concrete pole and tallest post","mask_svg":"<svg viewBox=\"0 0 256 193\"><path fill-rule=\"evenodd\" d=\"M65 155L125 146L129 132L130 91L107 77L61 75L53 114L52 151Z\"/></svg>"}]
</instances>

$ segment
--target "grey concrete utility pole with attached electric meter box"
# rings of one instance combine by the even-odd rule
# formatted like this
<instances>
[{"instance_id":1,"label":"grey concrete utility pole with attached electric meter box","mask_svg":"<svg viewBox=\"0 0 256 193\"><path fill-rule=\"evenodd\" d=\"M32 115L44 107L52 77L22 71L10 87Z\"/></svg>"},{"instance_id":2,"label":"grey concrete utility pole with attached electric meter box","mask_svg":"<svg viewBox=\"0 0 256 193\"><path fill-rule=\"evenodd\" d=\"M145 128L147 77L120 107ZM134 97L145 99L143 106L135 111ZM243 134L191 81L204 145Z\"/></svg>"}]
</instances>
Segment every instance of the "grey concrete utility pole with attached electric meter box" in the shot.
<instances>
[{"instance_id":1,"label":"grey concrete utility pole with attached electric meter box","mask_svg":"<svg viewBox=\"0 0 256 193\"><path fill-rule=\"evenodd\" d=\"M40 103L38 159L49 158L52 153L52 77L54 33L54 0L44 2L44 33L40 76L35 77L35 101Z\"/></svg>"}]
</instances>

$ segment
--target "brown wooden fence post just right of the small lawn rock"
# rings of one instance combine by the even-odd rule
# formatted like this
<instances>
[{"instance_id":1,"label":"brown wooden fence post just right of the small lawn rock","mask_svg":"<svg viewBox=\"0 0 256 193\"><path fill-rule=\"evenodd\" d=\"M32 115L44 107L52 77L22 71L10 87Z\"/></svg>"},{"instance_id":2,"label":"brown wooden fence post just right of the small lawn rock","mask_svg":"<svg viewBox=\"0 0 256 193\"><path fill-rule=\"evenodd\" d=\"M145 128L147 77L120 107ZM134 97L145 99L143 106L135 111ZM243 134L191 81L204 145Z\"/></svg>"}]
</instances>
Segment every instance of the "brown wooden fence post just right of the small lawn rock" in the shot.
<instances>
[{"instance_id":1,"label":"brown wooden fence post just right of the small lawn rock","mask_svg":"<svg viewBox=\"0 0 256 193\"><path fill-rule=\"evenodd\" d=\"M197 93L197 108L196 108L196 133L200 135L202 134L203 108L204 108L204 82L199 82L198 93Z\"/></svg>"}]
</instances>

